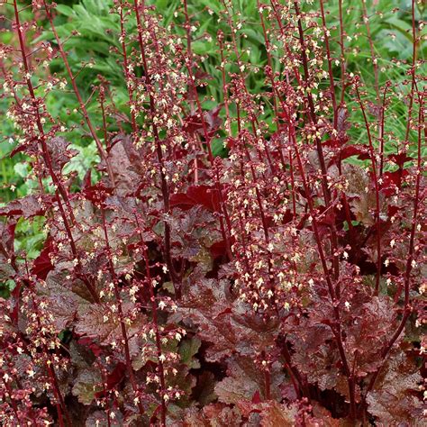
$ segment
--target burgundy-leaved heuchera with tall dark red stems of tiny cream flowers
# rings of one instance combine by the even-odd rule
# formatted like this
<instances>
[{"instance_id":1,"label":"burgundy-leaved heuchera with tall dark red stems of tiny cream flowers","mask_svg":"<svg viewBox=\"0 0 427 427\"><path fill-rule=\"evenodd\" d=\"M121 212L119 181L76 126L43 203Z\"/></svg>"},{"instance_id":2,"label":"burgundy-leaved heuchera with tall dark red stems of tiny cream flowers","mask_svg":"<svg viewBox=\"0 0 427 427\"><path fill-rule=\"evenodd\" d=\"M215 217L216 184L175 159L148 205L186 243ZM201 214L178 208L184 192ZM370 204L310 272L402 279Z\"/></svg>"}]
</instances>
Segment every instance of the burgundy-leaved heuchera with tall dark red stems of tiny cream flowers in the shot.
<instances>
[{"instance_id":1,"label":"burgundy-leaved heuchera with tall dark red stems of tiny cream flowers","mask_svg":"<svg viewBox=\"0 0 427 427\"><path fill-rule=\"evenodd\" d=\"M213 80L192 49L200 23L186 0L168 26L141 0L115 0L129 114L100 76L102 128L56 5L32 1L34 21L23 22L7 3L12 154L25 154L39 188L0 208L1 278L14 284L0 300L2 425L422 425L426 128L414 1L404 85L381 83L388 68L362 2L372 98L346 67L358 34L346 33L341 1L332 27L324 0L315 12L259 2L267 65L255 68L240 43L250 23L223 0L215 14L230 31L217 34ZM32 44L41 17L53 40ZM55 58L67 79L49 73ZM206 86L221 97L207 99ZM96 176L67 172L76 133L50 113L51 90L76 96ZM404 139L388 129L392 103ZM227 156L215 156L217 141ZM46 239L30 259L15 230L40 217Z\"/></svg>"}]
</instances>

